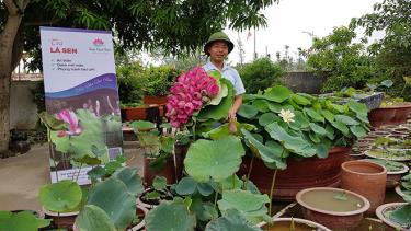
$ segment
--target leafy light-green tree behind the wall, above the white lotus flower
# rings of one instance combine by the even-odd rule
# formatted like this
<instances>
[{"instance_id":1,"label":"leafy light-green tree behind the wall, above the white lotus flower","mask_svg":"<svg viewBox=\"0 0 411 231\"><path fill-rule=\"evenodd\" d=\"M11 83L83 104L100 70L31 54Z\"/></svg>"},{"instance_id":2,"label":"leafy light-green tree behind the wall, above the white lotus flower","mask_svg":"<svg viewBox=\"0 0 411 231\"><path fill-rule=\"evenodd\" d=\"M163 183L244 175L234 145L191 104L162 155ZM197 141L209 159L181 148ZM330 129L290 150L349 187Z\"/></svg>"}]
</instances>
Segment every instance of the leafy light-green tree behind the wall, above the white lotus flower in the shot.
<instances>
[{"instance_id":1,"label":"leafy light-green tree behind the wall, above the white lotus flower","mask_svg":"<svg viewBox=\"0 0 411 231\"><path fill-rule=\"evenodd\" d=\"M353 28L341 26L323 38L315 38L307 65L317 73L327 72L329 78L321 91L338 91L346 86L362 89L375 76L364 43L353 43L355 37Z\"/></svg>"}]
</instances>

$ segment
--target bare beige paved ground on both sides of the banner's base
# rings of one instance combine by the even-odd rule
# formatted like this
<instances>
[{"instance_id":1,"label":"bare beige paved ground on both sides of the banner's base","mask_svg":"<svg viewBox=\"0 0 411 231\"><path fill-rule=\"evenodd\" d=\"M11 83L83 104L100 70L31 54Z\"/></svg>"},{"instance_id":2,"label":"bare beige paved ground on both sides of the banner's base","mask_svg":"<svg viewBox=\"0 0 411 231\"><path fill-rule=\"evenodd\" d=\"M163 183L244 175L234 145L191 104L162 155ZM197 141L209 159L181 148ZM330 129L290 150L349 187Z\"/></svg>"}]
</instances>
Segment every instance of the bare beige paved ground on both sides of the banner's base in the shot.
<instances>
[{"instance_id":1,"label":"bare beige paved ground on both sides of the banner's base","mask_svg":"<svg viewBox=\"0 0 411 231\"><path fill-rule=\"evenodd\" d=\"M127 165L142 173L142 153L137 142L124 142ZM24 154L0 159L0 210L30 209L39 211L41 186L50 182L47 145L34 145Z\"/></svg>"}]
</instances>

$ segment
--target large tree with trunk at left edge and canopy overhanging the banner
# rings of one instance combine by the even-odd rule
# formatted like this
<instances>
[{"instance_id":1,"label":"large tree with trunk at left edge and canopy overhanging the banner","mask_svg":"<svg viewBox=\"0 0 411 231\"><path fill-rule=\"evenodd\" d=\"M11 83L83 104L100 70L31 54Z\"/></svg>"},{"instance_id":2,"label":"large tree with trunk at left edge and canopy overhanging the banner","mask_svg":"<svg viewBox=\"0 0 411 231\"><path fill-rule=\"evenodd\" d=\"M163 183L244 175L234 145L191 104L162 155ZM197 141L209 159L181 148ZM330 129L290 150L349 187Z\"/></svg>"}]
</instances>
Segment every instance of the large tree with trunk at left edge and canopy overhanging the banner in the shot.
<instances>
[{"instance_id":1,"label":"large tree with trunk at left edge and canopy overhanging the banner","mask_svg":"<svg viewBox=\"0 0 411 231\"><path fill-rule=\"evenodd\" d=\"M111 30L123 49L161 47L181 56L227 25L266 26L260 13L278 0L3 0L0 2L0 155L10 140L10 77L23 49L39 67L39 25Z\"/></svg>"}]
</instances>

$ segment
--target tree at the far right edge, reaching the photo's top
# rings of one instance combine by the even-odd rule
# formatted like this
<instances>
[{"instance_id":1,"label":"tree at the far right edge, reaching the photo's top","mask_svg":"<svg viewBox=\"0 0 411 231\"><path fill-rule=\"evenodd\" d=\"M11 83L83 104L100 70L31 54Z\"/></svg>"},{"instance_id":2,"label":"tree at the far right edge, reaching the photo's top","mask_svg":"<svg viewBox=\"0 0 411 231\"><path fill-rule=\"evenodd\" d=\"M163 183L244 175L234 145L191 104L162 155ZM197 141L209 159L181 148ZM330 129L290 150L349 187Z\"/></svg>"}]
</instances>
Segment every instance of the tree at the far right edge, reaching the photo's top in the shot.
<instances>
[{"instance_id":1,"label":"tree at the far right edge, reaching the photo's top","mask_svg":"<svg viewBox=\"0 0 411 231\"><path fill-rule=\"evenodd\" d=\"M374 4L374 12L353 19L352 27L364 26L365 35L384 31L385 37L374 43L368 50L374 55L381 78L390 77L395 82L391 94L411 100L411 88L402 91L403 77L411 76L411 1L385 0ZM402 95L401 95L402 94Z\"/></svg>"}]
</instances>

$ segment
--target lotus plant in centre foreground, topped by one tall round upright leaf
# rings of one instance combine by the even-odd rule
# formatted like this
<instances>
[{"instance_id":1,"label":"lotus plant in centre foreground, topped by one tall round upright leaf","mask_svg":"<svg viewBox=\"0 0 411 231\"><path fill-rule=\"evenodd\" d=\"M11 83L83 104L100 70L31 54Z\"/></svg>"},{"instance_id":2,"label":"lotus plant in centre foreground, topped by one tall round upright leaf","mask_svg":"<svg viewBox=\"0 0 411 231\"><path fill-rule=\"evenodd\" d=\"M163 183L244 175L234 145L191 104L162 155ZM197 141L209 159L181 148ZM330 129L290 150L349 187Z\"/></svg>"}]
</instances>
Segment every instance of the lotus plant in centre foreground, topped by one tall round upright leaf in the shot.
<instances>
[{"instance_id":1,"label":"lotus plant in centre foreground, topped by one tall round upright leaf","mask_svg":"<svg viewBox=\"0 0 411 231\"><path fill-rule=\"evenodd\" d=\"M171 186L173 200L149 211L146 229L260 230L256 223L270 221L269 197L236 176L243 154L235 136L193 142L184 160L187 176Z\"/></svg>"}]
</instances>

